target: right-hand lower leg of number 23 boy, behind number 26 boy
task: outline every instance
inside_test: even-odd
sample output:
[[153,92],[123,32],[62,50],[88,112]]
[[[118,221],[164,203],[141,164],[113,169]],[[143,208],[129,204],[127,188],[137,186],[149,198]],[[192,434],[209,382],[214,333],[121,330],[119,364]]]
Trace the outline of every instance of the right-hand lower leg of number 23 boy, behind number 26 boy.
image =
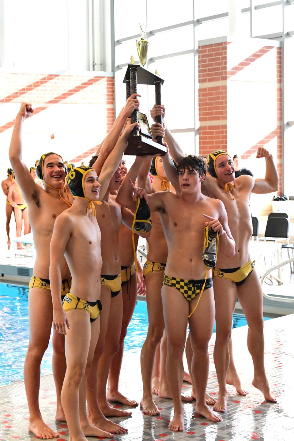
[[64,375],[67,370],[67,362],[64,351],[64,335],[53,329],[52,336],[52,371],[56,389],[56,421],[65,421],[65,415],[61,405],[60,394]]

